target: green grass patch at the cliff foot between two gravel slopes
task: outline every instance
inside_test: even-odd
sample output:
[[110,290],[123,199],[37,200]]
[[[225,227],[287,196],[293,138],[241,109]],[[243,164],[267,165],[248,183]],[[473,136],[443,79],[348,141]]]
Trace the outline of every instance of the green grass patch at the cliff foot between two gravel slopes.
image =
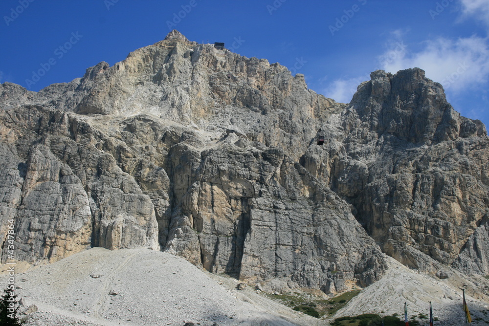
[[277,295],[271,293],[264,294],[270,299],[280,300],[282,304],[296,311],[302,311],[313,317],[320,318],[324,315],[333,315],[336,311],[348,304],[358,293],[360,293],[360,290],[348,291],[332,299],[313,299],[307,294],[300,294],[298,292]]

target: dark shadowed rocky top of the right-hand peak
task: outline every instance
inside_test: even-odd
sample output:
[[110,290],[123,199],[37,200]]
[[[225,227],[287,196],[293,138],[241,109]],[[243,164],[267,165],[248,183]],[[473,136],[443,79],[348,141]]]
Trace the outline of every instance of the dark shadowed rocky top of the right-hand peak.
[[350,106],[357,114],[352,119],[368,122],[367,128],[378,136],[410,143],[487,135],[480,121],[461,117],[446,101],[443,87],[426,78],[420,68],[394,75],[383,70],[372,72],[371,80],[358,88]]

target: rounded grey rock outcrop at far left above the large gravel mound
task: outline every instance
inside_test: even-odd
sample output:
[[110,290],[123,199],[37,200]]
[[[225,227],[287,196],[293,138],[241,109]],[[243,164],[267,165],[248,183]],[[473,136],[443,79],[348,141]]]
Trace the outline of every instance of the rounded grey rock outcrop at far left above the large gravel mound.
[[1,144],[2,230],[6,237],[15,219],[16,259],[57,261],[91,246],[159,248],[149,196],[111,155],[73,139],[87,126],[36,107],[3,110],[0,119],[2,139],[16,145]]

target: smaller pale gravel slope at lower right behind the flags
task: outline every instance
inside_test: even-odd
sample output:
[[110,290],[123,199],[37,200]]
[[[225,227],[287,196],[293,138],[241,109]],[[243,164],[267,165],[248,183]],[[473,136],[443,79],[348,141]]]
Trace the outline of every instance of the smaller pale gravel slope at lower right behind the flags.
[[[482,277],[471,276],[474,282],[453,269],[449,277],[441,280],[416,270],[388,257],[389,269],[382,279],[358,294],[347,306],[339,310],[335,318],[356,316],[363,313],[404,316],[407,303],[408,316],[422,313],[429,316],[432,302],[433,316],[438,317],[435,325],[460,326],[465,323],[462,310],[462,288],[466,288],[466,301],[472,316],[471,325],[487,325],[489,322],[489,282]],[[480,320],[477,320],[480,318]],[[421,320],[422,321],[422,320]],[[426,324],[426,319],[421,325]]]

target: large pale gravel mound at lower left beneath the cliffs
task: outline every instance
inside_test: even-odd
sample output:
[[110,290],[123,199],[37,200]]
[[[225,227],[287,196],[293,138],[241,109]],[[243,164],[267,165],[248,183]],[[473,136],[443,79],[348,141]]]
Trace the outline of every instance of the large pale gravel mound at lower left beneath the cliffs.
[[188,261],[149,249],[92,248],[16,275],[25,307],[38,307],[27,326],[314,324],[291,310],[278,316],[219,283]]

